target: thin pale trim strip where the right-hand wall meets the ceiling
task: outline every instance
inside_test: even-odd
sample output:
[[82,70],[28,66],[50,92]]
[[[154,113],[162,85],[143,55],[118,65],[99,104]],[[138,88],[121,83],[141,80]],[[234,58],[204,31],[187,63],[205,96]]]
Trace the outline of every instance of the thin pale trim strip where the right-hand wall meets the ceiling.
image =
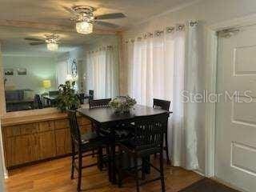
[[138,25],[141,25],[145,22],[149,22],[150,20],[154,19],[154,18],[159,18],[159,17],[162,17],[162,16],[165,16],[166,14],[170,14],[170,13],[173,13],[175,11],[178,11],[178,10],[182,10],[188,6],[192,6],[198,2],[201,2],[202,0],[194,0],[192,2],[185,2],[185,3],[182,3],[182,5],[179,5],[179,6],[175,6],[173,9],[170,9],[170,10],[166,10],[164,12],[162,12],[161,14],[156,14],[156,15],[153,15],[149,18],[146,18],[140,22],[135,22],[133,26],[138,26]]

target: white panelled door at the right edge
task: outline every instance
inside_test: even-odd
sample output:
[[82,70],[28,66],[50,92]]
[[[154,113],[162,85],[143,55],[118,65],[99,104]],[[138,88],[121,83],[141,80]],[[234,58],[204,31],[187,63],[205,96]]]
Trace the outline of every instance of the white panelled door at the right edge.
[[256,26],[238,30],[231,37],[218,37],[217,90],[223,95],[216,107],[215,175],[255,192]]

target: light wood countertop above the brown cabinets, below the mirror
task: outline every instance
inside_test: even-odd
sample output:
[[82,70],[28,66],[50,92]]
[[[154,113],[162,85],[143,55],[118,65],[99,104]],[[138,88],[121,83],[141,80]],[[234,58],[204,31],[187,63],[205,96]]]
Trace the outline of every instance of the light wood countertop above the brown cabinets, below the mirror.
[[52,114],[35,114],[24,117],[14,117],[14,118],[1,118],[1,126],[17,126],[33,122],[45,122],[56,119],[67,118],[66,113],[52,113]]

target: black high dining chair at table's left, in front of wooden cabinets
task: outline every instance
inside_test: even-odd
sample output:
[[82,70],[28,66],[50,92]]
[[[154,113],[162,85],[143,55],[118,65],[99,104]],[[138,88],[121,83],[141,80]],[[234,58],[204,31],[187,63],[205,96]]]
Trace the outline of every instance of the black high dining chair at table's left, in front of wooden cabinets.
[[[108,145],[108,138],[99,136],[96,132],[87,132],[86,134],[80,134],[76,111],[67,110],[67,112],[70,120],[70,134],[71,134],[71,146],[72,146],[71,179],[74,179],[74,169],[77,170],[78,171],[77,190],[81,191],[82,169],[88,168],[90,166],[96,166],[98,164],[102,164],[103,157],[102,157],[102,150],[100,149],[102,148],[102,146]],[[92,154],[84,154],[84,153],[90,152],[92,150],[98,150],[99,162],[93,163],[87,166],[83,166],[82,158],[92,155]],[[109,150],[106,150],[106,154],[107,155],[109,154]]]

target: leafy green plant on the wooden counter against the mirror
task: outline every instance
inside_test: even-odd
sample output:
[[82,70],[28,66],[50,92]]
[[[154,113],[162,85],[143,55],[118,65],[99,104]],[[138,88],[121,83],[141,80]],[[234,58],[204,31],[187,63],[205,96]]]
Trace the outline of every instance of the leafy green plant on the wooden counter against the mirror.
[[57,108],[66,111],[66,109],[77,109],[80,106],[80,100],[74,90],[75,82],[65,82],[58,86],[59,95],[57,98]]

